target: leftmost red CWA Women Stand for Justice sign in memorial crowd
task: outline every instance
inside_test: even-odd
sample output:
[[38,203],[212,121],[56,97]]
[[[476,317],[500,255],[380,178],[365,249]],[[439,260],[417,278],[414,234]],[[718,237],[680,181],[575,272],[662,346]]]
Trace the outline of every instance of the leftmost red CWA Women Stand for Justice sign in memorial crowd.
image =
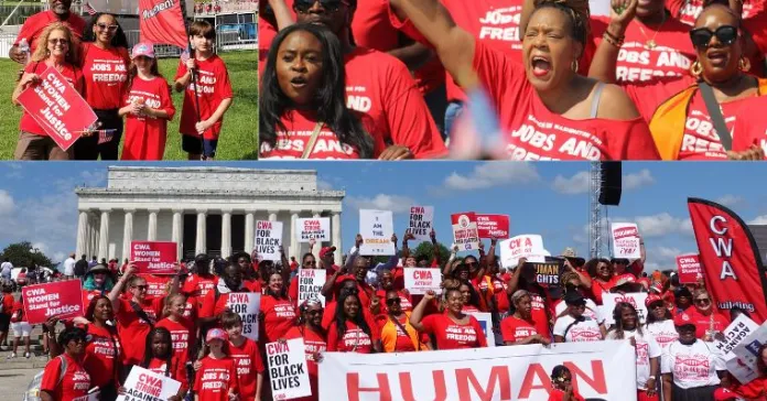
[[21,290],[21,297],[30,324],[45,323],[51,316],[68,319],[85,314],[79,280],[25,286]]

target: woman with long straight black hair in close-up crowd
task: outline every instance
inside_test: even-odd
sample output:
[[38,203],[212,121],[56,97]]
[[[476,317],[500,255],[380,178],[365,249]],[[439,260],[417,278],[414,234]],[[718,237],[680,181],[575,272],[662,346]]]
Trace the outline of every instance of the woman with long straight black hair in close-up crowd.
[[261,78],[261,159],[372,158],[372,138],[346,107],[343,61],[323,26],[294,24],[274,37]]

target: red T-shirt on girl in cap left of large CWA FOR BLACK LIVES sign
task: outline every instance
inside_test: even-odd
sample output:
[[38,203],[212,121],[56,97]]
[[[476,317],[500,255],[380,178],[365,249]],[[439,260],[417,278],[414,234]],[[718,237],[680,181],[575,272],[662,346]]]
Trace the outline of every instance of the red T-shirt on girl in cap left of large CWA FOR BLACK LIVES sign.
[[225,357],[212,358],[209,355],[202,359],[194,382],[195,395],[205,401],[229,401],[229,390],[239,393],[239,380],[235,360]]

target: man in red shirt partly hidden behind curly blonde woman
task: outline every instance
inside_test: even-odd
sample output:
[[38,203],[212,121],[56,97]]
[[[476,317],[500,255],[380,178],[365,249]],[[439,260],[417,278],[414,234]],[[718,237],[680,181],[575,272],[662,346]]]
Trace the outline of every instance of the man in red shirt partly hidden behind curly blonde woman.
[[37,47],[37,36],[52,23],[62,22],[72,30],[72,33],[77,39],[83,37],[85,20],[69,10],[72,0],[48,0],[48,4],[51,6],[50,10],[41,11],[30,17],[21,25],[13,46],[8,51],[8,56],[14,62],[20,64],[26,63],[26,54],[19,48],[21,41],[25,40],[30,46],[30,54],[34,53],[34,50]]

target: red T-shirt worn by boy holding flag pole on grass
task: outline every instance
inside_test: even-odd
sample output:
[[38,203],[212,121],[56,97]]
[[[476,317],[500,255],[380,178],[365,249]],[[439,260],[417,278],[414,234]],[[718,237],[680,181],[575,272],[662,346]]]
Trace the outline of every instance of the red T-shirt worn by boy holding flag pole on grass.
[[[186,65],[179,63],[179,72],[174,79],[179,79],[186,74]],[[218,106],[225,99],[230,99],[231,83],[226,64],[217,55],[209,58],[197,59],[197,94],[199,95],[199,118],[203,120],[213,116]],[[184,90],[184,106],[181,109],[181,124],[179,131],[185,136],[198,137],[197,129],[197,99],[195,99],[194,83],[190,82]],[[216,123],[208,128],[203,134],[205,139],[218,139],[222,132],[222,117]]]

